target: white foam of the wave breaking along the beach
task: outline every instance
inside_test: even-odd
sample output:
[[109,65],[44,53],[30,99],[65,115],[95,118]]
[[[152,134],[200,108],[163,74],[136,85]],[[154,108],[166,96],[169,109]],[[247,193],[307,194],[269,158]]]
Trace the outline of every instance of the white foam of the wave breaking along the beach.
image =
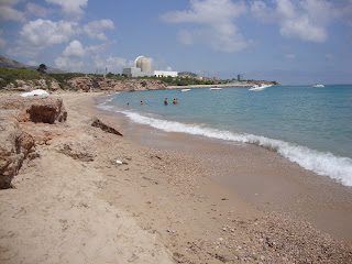
[[[108,109],[108,106],[103,106],[103,108],[106,110],[112,110],[112,108]],[[161,120],[132,111],[122,112],[136,123],[147,124],[166,132],[183,132],[232,142],[256,144],[271,151],[275,151],[290,162],[295,162],[301,167],[312,170],[318,175],[328,176],[344,186],[352,186],[352,160],[349,157],[339,157],[331,153],[318,152],[306,146],[254,134],[240,134],[206,128],[199,124],[185,124],[175,121]]]

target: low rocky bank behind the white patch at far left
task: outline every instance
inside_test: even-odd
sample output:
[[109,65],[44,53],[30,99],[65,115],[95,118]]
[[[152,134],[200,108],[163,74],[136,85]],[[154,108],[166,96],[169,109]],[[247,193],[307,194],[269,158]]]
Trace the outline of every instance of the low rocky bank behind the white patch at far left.
[[59,84],[54,79],[52,79],[51,81],[47,81],[45,79],[35,79],[35,80],[16,79],[14,82],[10,82],[6,87],[3,87],[3,89],[9,91],[31,91],[35,89],[55,91],[59,89]]

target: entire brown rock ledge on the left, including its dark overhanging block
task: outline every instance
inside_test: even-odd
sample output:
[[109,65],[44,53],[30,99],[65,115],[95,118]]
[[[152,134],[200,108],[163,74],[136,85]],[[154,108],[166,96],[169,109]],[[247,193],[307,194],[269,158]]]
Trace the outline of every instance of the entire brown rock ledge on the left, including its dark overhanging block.
[[[43,131],[33,123],[64,122],[67,111],[61,98],[1,96],[0,98],[0,188],[10,188],[25,158],[35,152],[35,139]],[[44,134],[47,134],[45,132]]]

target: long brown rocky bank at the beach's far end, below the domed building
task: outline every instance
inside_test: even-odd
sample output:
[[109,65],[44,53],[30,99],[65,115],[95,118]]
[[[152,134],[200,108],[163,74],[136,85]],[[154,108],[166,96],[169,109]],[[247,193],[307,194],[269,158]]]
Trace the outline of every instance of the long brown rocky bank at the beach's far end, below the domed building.
[[74,90],[78,91],[138,91],[163,90],[166,85],[155,79],[107,79],[103,77],[76,77],[68,80]]

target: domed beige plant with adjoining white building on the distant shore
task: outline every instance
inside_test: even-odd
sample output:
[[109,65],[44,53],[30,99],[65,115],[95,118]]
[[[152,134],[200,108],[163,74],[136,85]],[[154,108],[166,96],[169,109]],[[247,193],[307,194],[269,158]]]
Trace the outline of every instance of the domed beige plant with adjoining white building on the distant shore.
[[124,68],[122,70],[123,75],[128,77],[144,77],[144,76],[155,76],[155,77],[177,77],[177,72],[170,70],[152,70],[152,62],[151,59],[139,56],[134,61],[134,67]]

